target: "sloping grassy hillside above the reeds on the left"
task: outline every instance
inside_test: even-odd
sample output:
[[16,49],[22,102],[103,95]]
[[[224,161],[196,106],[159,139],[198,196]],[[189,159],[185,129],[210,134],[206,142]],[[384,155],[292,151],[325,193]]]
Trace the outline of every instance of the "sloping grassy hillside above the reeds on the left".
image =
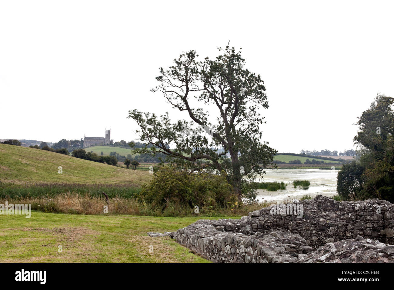
[[[58,173],[58,167],[63,173]],[[0,181],[24,183],[135,183],[149,181],[147,171],[130,170],[55,152],[0,144]]]

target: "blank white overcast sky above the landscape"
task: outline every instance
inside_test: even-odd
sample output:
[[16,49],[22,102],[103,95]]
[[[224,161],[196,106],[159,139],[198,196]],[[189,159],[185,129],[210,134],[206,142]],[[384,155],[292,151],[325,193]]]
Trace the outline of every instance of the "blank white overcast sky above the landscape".
[[355,149],[357,117],[394,97],[394,2],[0,1],[0,139],[134,140],[165,103],[159,67],[227,42],[266,86],[263,141],[279,152]]

